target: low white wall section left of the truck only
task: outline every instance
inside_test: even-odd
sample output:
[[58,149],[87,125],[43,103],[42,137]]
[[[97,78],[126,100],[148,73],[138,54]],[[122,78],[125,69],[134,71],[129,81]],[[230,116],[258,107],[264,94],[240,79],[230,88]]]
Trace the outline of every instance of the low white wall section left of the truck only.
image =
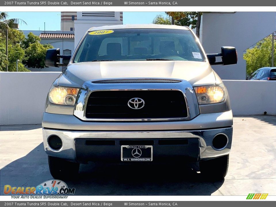
[[0,125],[41,124],[45,101],[60,72],[0,72]]

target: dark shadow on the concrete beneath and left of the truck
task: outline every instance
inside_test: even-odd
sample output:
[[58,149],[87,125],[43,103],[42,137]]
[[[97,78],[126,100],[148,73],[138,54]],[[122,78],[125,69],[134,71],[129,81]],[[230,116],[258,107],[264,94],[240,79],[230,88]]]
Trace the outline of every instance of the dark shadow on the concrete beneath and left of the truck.
[[[195,164],[136,166],[91,162],[81,164],[79,176],[65,183],[76,188],[75,195],[184,196],[211,195],[224,182],[205,182],[197,171]],[[4,195],[4,185],[37,186],[51,179],[41,143],[0,170],[0,195]]]

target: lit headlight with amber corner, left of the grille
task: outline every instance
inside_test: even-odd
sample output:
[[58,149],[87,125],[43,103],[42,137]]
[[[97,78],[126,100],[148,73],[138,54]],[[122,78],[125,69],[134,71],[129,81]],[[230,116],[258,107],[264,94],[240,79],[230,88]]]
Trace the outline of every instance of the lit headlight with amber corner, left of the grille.
[[49,92],[49,101],[52,104],[74,106],[79,89],[52,86]]

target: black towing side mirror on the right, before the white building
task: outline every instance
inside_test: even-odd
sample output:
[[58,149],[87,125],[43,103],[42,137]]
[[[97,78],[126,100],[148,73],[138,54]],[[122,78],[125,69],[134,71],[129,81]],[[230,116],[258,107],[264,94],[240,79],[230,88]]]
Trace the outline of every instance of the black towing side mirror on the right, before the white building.
[[[220,62],[216,62],[216,57],[221,57]],[[235,47],[223,46],[221,53],[207,54],[210,65],[233,65],[237,64],[238,57]]]

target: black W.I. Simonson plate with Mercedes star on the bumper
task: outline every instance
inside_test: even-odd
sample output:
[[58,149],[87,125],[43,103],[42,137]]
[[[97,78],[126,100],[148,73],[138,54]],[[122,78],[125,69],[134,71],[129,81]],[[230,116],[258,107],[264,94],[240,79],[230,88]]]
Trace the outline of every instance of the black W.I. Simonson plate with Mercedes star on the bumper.
[[151,145],[122,145],[122,161],[152,161]]

